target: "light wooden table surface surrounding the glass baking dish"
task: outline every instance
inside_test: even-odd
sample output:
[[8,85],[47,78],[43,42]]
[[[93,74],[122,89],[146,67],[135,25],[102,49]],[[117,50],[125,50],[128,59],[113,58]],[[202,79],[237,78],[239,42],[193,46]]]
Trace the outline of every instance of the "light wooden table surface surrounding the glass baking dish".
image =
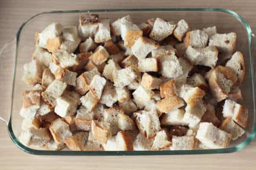
[[[50,10],[97,8],[227,8],[236,11],[256,30],[256,1],[233,0],[0,0],[0,48],[11,40],[23,21]],[[254,32],[255,34],[255,32]],[[1,90],[0,90],[1,91]],[[255,170],[256,140],[236,153],[181,156],[35,156],[18,149],[0,123],[0,169],[197,169]],[[60,168],[61,167],[61,168]]]

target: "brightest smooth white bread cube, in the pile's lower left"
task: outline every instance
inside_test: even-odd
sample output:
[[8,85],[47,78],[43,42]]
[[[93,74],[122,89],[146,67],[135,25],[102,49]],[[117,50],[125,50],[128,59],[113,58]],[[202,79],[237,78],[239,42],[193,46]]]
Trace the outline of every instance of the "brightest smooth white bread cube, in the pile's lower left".
[[61,117],[72,116],[76,113],[76,108],[80,104],[80,95],[74,91],[64,92],[56,99],[54,112]]

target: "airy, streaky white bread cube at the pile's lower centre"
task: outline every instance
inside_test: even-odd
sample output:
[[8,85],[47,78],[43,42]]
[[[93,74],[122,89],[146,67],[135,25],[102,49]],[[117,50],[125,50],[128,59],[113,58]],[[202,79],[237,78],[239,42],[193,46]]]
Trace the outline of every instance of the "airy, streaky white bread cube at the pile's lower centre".
[[154,138],[157,135],[157,132],[161,130],[156,111],[135,112],[134,116],[140,133],[146,139]]

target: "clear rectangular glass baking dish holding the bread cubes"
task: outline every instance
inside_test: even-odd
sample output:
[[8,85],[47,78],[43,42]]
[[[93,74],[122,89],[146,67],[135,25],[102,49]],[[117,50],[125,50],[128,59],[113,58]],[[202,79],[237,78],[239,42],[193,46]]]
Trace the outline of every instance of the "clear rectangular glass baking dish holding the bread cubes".
[[[19,142],[22,117],[19,114],[22,106],[22,92],[27,88],[22,82],[23,65],[30,61],[34,48],[35,32],[43,30],[53,22],[64,26],[79,23],[79,15],[97,13],[100,17],[108,17],[111,21],[125,15],[130,15],[134,23],[145,22],[151,17],[161,17],[165,20],[186,20],[191,28],[216,26],[218,33],[236,32],[236,51],[244,55],[246,74],[241,85],[244,96],[242,105],[249,110],[246,133],[238,140],[233,141],[227,148],[208,150],[160,150],[160,151],[50,151],[35,150]],[[231,153],[247,146],[255,137],[255,92],[256,78],[253,69],[253,46],[255,37],[249,24],[236,12],[219,8],[147,8],[147,9],[99,9],[77,11],[47,11],[37,14],[24,22],[14,40],[7,43],[0,51],[0,79],[1,97],[0,120],[6,123],[9,135],[17,147],[27,153],[36,155],[178,155],[178,154],[206,154]],[[255,51],[255,49],[254,49]]]

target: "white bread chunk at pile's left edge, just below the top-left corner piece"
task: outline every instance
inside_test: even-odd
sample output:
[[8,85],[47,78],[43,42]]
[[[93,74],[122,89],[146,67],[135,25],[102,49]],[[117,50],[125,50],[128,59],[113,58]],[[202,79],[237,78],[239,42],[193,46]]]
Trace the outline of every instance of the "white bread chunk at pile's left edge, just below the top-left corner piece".
[[48,68],[49,62],[51,61],[51,54],[44,48],[35,45],[31,58],[36,59],[42,68]]

